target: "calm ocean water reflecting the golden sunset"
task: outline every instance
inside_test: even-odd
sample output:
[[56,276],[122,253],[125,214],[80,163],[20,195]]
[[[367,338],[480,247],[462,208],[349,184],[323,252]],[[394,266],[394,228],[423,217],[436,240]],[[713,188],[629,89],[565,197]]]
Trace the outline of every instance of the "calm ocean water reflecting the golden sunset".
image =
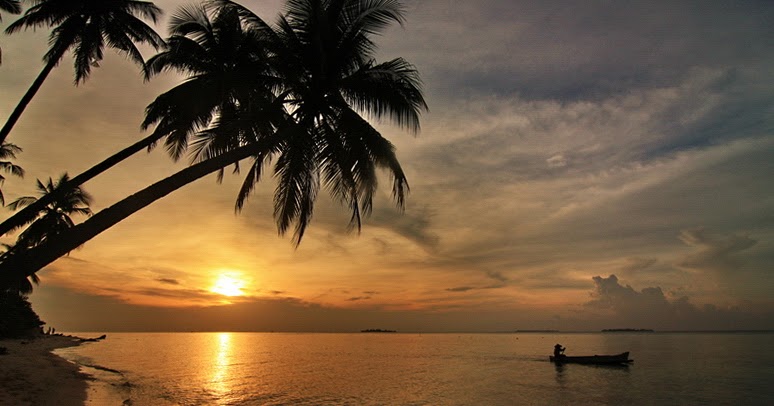
[[[556,366],[556,343],[634,363]],[[115,333],[57,354],[95,376],[97,405],[772,405],[772,344],[771,333]]]

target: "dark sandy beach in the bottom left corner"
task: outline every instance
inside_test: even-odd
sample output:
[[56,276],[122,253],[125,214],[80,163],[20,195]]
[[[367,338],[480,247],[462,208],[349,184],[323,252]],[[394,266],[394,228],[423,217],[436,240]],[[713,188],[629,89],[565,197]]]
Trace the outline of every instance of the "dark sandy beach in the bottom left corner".
[[0,340],[0,405],[83,405],[88,375],[51,353],[80,345],[78,337],[40,336]]

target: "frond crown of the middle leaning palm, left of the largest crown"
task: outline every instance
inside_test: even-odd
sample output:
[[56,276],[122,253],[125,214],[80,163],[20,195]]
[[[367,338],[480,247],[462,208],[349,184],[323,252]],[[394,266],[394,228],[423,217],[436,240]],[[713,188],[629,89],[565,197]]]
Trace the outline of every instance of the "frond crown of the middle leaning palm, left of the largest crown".
[[[165,50],[146,64],[146,79],[170,70],[188,79],[147,107],[142,127],[155,124],[153,134],[166,139],[167,151],[177,160],[191,137],[213,123],[247,110],[248,105],[253,112],[271,109],[278,80],[272,75],[265,33],[244,24],[232,5],[207,2],[181,7],[172,16],[169,31]],[[273,108],[275,113],[281,112],[279,107]],[[273,130],[271,120],[253,124],[259,123],[263,132]]]

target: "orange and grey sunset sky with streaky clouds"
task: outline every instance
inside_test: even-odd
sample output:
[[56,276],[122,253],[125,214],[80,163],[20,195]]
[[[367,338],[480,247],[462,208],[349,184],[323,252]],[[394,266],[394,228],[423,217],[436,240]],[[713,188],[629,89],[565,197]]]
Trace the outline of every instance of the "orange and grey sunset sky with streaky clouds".
[[[165,35],[184,2],[156,4]],[[273,22],[283,3],[241,4]],[[296,248],[274,224],[272,179],[235,214],[242,175],[209,176],[39,272],[41,318],[59,331],[774,329],[774,4],[405,5],[378,59],[416,66],[429,111],[416,136],[375,123],[408,176],[404,212],[386,176],[359,234],[321,195]],[[47,35],[0,36],[0,116]],[[76,87],[66,57],[8,138],[27,173],[5,175],[6,201],[147,135],[145,106],[180,80],[146,83],[106,51]],[[98,211],[186,164],[159,148],[84,188]]]

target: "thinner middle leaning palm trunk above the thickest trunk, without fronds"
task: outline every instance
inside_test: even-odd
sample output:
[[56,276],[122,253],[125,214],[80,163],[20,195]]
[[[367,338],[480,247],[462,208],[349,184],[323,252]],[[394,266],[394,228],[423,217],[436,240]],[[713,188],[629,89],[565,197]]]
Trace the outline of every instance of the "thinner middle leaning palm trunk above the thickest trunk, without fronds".
[[153,133],[150,136],[122,149],[121,151],[115,153],[113,156],[105,159],[97,165],[92,166],[80,175],[70,179],[70,181],[61,185],[52,193],[41,196],[40,199],[36,200],[34,203],[26,206],[22,210],[16,212],[16,214],[13,216],[0,223],[0,236],[3,236],[6,233],[22,227],[28,222],[34,220],[38,213],[40,213],[40,211],[43,210],[48,204],[64,196],[68,191],[83,185],[84,183],[93,179],[95,176],[112,168],[124,159],[129,158],[135,153],[152,146],[160,138],[162,138],[161,135]]

